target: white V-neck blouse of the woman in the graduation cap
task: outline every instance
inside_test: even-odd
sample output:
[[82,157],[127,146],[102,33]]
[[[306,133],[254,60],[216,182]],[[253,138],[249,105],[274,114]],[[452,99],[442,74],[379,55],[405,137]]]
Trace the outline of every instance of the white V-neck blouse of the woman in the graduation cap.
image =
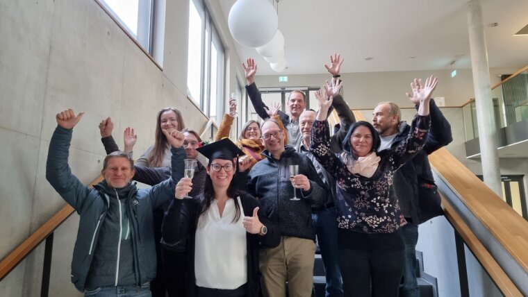
[[[235,203],[240,219],[233,223]],[[240,197],[228,199],[222,217],[214,200],[199,219],[195,235],[196,285],[213,289],[236,289],[247,282],[246,230]]]

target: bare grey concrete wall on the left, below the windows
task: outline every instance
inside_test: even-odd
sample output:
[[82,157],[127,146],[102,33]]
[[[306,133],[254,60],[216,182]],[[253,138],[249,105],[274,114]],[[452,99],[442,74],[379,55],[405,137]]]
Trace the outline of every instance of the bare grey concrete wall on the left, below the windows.
[[[221,10],[213,4],[215,22]],[[44,178],[55,114],[85,116],[74,129],[69,163],[83,183],[99,176],[105,151],[97,125],[106,117],[135,128],[136,157],[154,141],[158,110],[182,110],[186,126],[208,119],[186,97],[188,0],[159,1],[156,56],[160,69],[94,0],[0,1],[0,258],[20,244],[65,202]],[[222,16],[222,15],[220,15]],[[162,22],[163,21],[163,22]],[[231,61],[226,93],[242,73],[226,24],[220,24]],[[235,69],[238,67],[238,69]],[[69,282],[78,217],[55,236],[50,296],[80,296]],[[0,296],[38,296],[43,245],[0,282]]]

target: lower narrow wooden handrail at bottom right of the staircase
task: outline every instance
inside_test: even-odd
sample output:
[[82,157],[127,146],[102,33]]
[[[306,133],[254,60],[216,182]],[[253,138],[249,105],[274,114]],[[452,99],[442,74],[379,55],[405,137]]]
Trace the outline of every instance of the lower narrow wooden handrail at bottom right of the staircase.
[[460,215],[454,210],[449,202],[442,197],[442,205],[447,221],[451,223],[456,232],[463,238],[470,251],[477,257],[484,270],[490,275],[490,278],[499,287],[504,296],[522,296],[519,289],[513,284],[508,275],[502,270],[500,265],[493,259],[486,247],[477,238],[475,233],[464,222]]

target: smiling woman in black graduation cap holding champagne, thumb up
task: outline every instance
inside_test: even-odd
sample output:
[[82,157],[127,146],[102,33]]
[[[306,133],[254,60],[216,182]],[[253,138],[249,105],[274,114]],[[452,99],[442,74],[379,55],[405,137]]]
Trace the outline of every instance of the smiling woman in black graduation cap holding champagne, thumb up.
[[188,240],[188,296],[258,297],[261,244],[279,245],[279,231],[251,195],[237,189],[236,159],[244,155],[229,139],[197,148],[209,159],[204,193],[185,199],[192,189],[189,178],[176,185],[176,199],[163,219],[166,244]]

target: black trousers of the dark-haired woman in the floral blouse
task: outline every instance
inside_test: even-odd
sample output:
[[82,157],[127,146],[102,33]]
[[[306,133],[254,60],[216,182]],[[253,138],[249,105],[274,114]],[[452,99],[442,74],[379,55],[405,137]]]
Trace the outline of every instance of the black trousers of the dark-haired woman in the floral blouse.
[[345,297],[398,296],[405,248],[401,232],[339,230],[339,257]]

